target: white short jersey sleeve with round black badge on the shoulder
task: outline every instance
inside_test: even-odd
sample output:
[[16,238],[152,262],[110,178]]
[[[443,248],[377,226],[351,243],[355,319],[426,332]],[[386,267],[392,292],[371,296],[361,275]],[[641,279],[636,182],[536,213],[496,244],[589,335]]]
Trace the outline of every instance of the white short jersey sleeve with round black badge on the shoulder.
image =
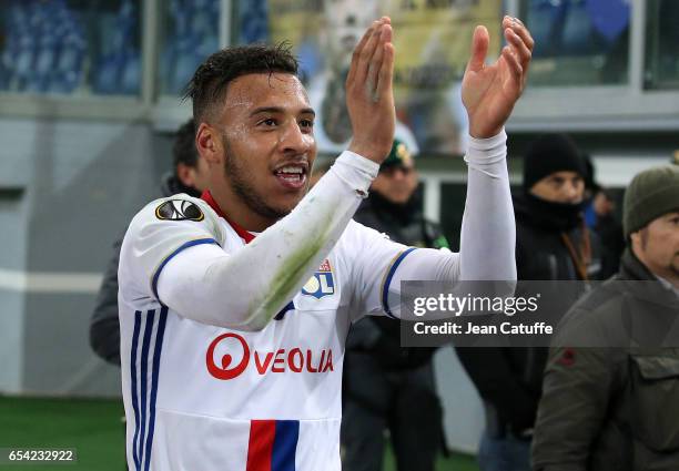
[[158,278],[168,262],[186,248],[223,243],[219,216],[202,199],[184,194],[156,199],[128,228],[118,272],[120,289],[124,297],[158,299]]

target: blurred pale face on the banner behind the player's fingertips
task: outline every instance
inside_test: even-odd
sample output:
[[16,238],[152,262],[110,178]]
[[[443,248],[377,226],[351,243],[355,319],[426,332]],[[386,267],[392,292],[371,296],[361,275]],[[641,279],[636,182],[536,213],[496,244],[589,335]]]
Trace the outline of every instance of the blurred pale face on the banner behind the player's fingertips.
[[365,29],[378,17],[375,0],[325,0],[326,39],[332,66],[348,66]]

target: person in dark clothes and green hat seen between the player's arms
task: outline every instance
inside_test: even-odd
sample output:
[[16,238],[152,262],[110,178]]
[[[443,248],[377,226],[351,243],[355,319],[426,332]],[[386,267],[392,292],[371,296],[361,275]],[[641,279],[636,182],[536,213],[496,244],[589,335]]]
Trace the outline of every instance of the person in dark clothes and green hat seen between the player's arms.
[[[354,219],[409,246],[447,247],[440,227],[423,215],[418,185],[415,160],[396,139]],[[398,470],[434,471],[443,442],[434,351],[401,347],[401,327],[392,319],[366,316],[352,325],[343,379],[344,470],[381,471],[388,429]]]

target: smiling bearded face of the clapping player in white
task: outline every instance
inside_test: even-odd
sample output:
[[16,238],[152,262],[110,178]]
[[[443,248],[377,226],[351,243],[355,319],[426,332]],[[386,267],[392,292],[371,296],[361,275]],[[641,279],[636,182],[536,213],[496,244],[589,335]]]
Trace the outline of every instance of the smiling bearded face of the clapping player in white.
[[265,219],[288,214],[308,190],[314,112],[300,80],[249,74],[227,89],[220,131],[231,193]]

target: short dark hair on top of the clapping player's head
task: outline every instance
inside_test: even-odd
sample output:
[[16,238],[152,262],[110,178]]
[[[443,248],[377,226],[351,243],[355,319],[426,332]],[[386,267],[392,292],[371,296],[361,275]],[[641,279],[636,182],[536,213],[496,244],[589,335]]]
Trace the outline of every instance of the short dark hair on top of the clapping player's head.
[[193,119],[204,121],[205,114],[224,100],[229,84],[249,73],[290,73],[297,75],[298,62],[288,42],[276,45],[236,45],[215,52],[197,68],[186,85],[184,99],[193,102]]

